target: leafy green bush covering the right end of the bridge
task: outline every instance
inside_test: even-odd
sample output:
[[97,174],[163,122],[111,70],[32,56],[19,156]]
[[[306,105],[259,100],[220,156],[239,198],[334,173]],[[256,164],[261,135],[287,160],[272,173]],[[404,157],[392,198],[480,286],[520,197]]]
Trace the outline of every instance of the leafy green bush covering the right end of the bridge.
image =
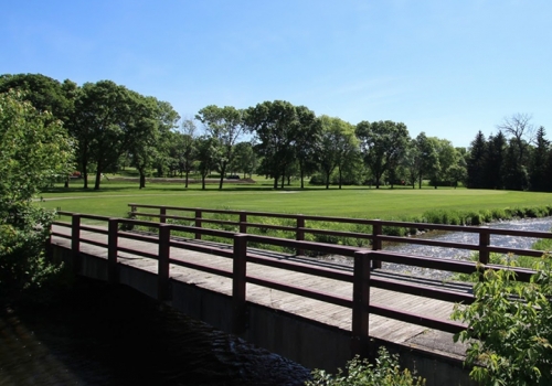
[[552,264],[550,256],[530,283],[511,270],[485,271],[474,287],[476,301],[457,304],[453,320],[468,329],[455,341],[468,342],[466,363],[481,385],[550,385],[552,383]]

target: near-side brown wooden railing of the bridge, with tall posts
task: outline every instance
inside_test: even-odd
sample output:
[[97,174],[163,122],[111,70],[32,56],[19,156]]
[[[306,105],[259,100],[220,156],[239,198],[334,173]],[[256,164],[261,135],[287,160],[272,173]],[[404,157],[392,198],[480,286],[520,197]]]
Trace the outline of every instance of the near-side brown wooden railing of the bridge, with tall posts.
[[[232,280],[232,301],[233,301],[233,331],[241,333],[246,329],[246,285],[257,285],[274,290],[279,290],[296,296],[306,297],[322,302],[328,302],[350,309],[352,312],[352,344],[357,347],[355,351],[364,350],[369,339],[368,319],[371,313],[383,315],[386,318],[432,328],[447,332],[458,332],[465,329],[460,323],[450,320],[434,319],[428,315],[414,314],[404,310],[388,308],[383,304],[370,302],[370,288],[381,288],[390,291],[415,294],[429,299],[438,299],[448,302],[471,303],[474,297],[469,289],[452,290],[447,288],[438,288],[431,286],[422,286],[415,282],[397,282],[382,277],[374,277],[371,274],[371,261],[380,260],[393,264],[402,264],[422,268],[439,269],[450,272],[473,274],[481,266],[471,261],[458,261],[452,259],[438,259],[424,256],[411,256],[403,254],[394,254],[382,250],[370,250],[365,248],[314,243],[306,240],[294,240],[286,238],[268,237],[261,235],[252,235],[244,233],[235,233],[227,230],[216,230],[195,226],[174,225],[167,223],[138,221],[129,218],[110,218],[96,215],[76,214],[70,212],[60,212],[62,216],[70,216],[70,222],[57,221],[55,226],[70,228],[70,233],[53,232],[52,237],[62,237],[71,239],[71,248],[73,251],[73,266],[78,271],[81,264],[82,245],[88,244],[96,247],[102,247],[107,250],[107,279],[110,282],[118,282],[118,256],[120,253],[138,255],[146,258],[156,259],[158,261],[158,298],[167,300],[170,298],[170,267],[171,265],[187,267],[200,271],[210,272]],[[82,221],[89,219],[104,223],[106,226],[86,225]],[[121,226],[144,226],[158,229],[157,233],[134,233],[121,230]],[[185,239],[174,237],[174,233],[179,235],[190,233],[193,235],[210,235],[219,238],[225,238],[229,244],[198,242],[195,239]],[[172,235],[171,235],[172,233]],[[92,235],[104,235],[103,240],[98,240]],[[148,244],[157,245],[157,253],[147,253],[140,248],[124,247],[120,245],[121,239],[132,239]],[[294,260],[290,257],[279,255],[280,258],[267,256],[250,245],[274,245],[289,249],[300,249],[316,251],[320,254],[341,255],[353,258],[353,268],[344,267],[328,267],[308,264],[301,260]],[[183,261],[171,257],[171,249],[191,249],[210,255],[222,256],[232,259],[232,269],[221,269],[209,266],[202,261]],[[277,281],[267,277],[258,277],[247,274],[247,265],[264,265],[278,269],[285,269],[293,272],[301,272],[311,276],[330,278],[333,280],[352,283],[352,292],[350,296],[336,294],[327,291],[305,288],[290,282]],[[501,269],[500,267],[495,267]],[[502,267],[503,268],[503,267]],[[520,280],[529,280],[534,274],[531,270],[509,268],[518,274]],[[364,347],[364,349],[362,349]]]

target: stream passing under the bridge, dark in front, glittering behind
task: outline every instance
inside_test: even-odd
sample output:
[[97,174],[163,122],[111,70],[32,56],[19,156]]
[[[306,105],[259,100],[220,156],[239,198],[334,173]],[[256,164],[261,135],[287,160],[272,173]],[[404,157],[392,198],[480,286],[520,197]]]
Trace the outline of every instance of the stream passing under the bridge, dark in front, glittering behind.
[[[549,232],[552,217],[492,224]],[[477,235],[422,237],[477,244]],[[529,248],[534,239],[491,236]],[[467,259],[469,251],[415,245],[405,254]],[[434,270],[384,265],[435,278]],[[79,279],[49,305],[0,309],[0,386],[20,385],[302,385],[309,371],[216,331],[125,287]]]

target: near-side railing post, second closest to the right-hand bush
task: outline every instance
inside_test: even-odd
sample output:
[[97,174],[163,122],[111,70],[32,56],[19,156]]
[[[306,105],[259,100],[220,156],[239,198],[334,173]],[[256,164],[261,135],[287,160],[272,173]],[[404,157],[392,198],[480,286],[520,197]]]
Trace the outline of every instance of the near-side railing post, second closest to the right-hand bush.
[[247,265],[247,235],[234,235],[234,276],[232,279],[232,332],[241,334],[247,328],[245,283]]

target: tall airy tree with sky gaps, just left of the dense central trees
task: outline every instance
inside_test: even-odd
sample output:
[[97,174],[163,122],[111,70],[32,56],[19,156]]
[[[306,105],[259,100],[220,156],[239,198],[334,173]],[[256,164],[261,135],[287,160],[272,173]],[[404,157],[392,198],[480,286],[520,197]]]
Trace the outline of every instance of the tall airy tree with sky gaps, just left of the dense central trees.
[[202,108],[195,119],[205,126],[206,132],[216,139],[216,143],[221,147],[217,167],[221,172],[219,189],[222,189],[226,168],[234,156],[234,144],[244,131],[243,110],[232,106],[217,107],[210,105]]

